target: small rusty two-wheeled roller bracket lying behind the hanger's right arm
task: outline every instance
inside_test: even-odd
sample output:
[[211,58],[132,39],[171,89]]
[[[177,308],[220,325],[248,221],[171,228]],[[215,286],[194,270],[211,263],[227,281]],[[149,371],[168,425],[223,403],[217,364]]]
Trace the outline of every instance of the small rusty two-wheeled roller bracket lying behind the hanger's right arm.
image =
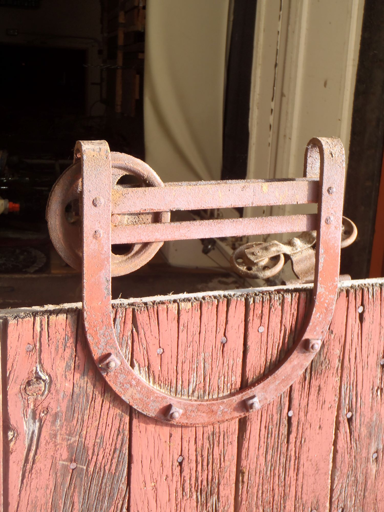
[[[355,224],[343,217],[340,247],[350,246],[357,237]],[[284,254],[292,263],[296,283],[313,283],[315,275],[316,231],[303,231],[286,242],[250,242],[235,249],[230,257],[233,270],[245,278],[268,280],[283,268]],[[292,283],[294,283],[292,281]]]

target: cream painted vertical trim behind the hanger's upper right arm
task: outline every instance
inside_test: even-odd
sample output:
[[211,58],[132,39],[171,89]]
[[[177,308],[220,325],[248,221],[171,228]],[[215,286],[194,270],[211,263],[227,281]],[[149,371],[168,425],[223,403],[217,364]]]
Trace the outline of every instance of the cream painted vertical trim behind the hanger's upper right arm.
[[258,0],[248,178],[303,176],[315,136],[342,139],[348,159],[363,9],[364,0]]

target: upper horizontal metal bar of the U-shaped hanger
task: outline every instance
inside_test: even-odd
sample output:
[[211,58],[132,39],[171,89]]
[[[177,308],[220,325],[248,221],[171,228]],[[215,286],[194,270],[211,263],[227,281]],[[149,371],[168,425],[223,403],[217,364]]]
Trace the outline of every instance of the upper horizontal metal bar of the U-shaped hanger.
[[236,208],[316,203],[317,180],[244,180],[165,183],[164,187],[112,190],[112,212],[131,214],[151,211]]

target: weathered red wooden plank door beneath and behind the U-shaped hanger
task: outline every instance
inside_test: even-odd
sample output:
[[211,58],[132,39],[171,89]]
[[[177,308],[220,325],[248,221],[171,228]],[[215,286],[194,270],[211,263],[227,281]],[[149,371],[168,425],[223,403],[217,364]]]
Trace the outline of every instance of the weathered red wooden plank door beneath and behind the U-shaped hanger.
[[[384,281],[340,288],[321,351],[288,391],[247,417],[196,427],[147,417],[110,389],[77,305],[3,312],[4,512],[380,512],[383,292]],[[116,303],[114,325],[155,388],[215,398],[276,364],[310,294]]]

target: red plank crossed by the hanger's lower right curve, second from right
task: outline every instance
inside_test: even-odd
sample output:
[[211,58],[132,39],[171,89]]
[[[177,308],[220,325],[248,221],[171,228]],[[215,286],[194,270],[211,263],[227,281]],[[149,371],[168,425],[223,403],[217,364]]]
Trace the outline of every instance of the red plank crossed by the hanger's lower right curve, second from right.
[[[345,302],[342,294],[322,352],[307,372],[280,399],[241,420],[235,510],[328,510]],[[304,293],[263,296],[249,305],[246,383],[290,346],[305,306]]]

